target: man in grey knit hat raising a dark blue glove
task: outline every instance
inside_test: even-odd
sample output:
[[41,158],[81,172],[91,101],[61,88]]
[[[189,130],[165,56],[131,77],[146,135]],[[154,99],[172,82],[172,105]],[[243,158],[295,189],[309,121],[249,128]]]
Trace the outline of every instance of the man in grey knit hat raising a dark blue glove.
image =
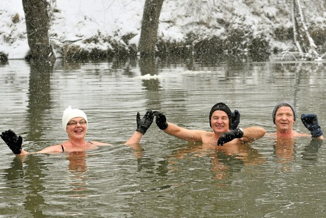
[[277,131],[273,135],[277,137],[293,138],[311,136],[312,138],[323,139],[323,132],[318,124],[316,114],[311,113],[301,115],[301,121],[310,131],[310,135],[298,133],[292,129],[296,119],[296,111],[292,103],[288,101],[281,101],[277,103],[273,110],[272,117]]

